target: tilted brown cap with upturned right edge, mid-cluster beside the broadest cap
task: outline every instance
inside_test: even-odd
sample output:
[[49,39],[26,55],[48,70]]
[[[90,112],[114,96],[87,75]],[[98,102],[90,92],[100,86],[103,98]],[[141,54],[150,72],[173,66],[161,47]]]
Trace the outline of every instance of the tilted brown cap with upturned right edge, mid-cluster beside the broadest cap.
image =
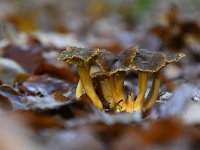
[[121,51],[118,55],[118,60],[114,63],[112,71],[110,74],[114,74],[118,71],[128,71],[130,70],[130,65],[136,56],[138,47],[130,47]]

